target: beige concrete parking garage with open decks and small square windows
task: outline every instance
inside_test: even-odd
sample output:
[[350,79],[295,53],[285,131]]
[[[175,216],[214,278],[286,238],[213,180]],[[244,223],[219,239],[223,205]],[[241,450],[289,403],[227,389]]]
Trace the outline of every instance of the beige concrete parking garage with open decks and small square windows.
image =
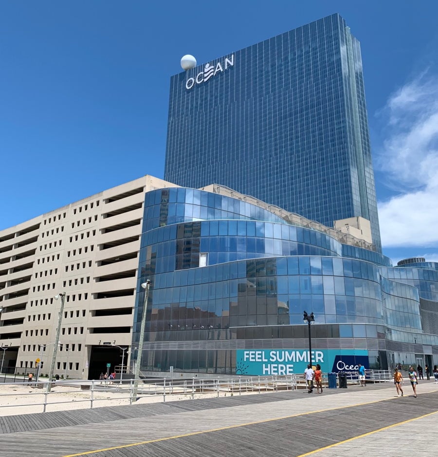
[[[91,346],[99,341],[130,346],[133,311],[101,317],[94,313],[134,307],[144,196],[163,187],[175,185],[146,175],[0,231],[0,345],[15,354],[19,372],[35,368],[39,344],[54,342],[60,307],[54,296],[59,292],[66,293],[66,300],[55,374],[64,374],[68,360],[69,377],[87,378]],[[105,233],[108,229],[112,231]],[[104,249],[125,238],[133,240]],[[22,253],[27,256],[16,259]],[[131,295],[103,298],[122,289]],[[131,331],[111,330],[121,326]],[[105,332],[94,333],[96,327]],[[52,351],[53,345],[43,352],[43,374],[49,372]]]

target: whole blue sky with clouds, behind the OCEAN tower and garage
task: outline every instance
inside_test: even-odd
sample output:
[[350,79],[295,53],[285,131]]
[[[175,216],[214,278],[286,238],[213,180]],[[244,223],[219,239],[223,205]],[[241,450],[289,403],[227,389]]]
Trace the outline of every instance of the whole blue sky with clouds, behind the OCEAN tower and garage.
[[163,177],[169,79],[334,12],[361,41],[384,253],[438,261],[435,1],[3,1],[0,229]]

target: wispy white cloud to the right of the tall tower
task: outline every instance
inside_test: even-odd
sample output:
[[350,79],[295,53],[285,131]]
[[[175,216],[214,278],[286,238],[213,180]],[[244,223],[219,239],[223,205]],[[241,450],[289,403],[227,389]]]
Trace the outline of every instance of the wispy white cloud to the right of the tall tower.
[[[398,195],[379,202],[383,247],[438,244],[438,77],[427,73],[388,100],[378,166]],[[430,257],[430,256],[428,256]]]

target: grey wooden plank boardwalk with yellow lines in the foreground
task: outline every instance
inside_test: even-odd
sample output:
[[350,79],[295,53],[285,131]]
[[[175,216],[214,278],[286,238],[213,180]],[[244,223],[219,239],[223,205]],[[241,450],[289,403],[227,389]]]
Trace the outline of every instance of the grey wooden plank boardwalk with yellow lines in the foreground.
[[397,398],[388,383],[4,417],[0,455],[296,457],[324,448],[313,455],[326,457],[357,454],[359,442],[361,453],[384,455],[421,436],[415,454],[426,456],[438,432],[438,385],[418,390]]

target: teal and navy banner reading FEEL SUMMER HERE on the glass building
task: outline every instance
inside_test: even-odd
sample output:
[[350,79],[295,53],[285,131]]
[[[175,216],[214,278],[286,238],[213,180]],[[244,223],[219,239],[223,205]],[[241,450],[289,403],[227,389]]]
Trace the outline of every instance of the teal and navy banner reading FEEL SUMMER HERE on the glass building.
[[[284,376],[302,374],[309,364],[309,351],[293,349],[237,349],[236,374]],[[323,349],[312,351],[311,364],[324,372],[357,372],[358,365],[369,368],[364,349]]]

